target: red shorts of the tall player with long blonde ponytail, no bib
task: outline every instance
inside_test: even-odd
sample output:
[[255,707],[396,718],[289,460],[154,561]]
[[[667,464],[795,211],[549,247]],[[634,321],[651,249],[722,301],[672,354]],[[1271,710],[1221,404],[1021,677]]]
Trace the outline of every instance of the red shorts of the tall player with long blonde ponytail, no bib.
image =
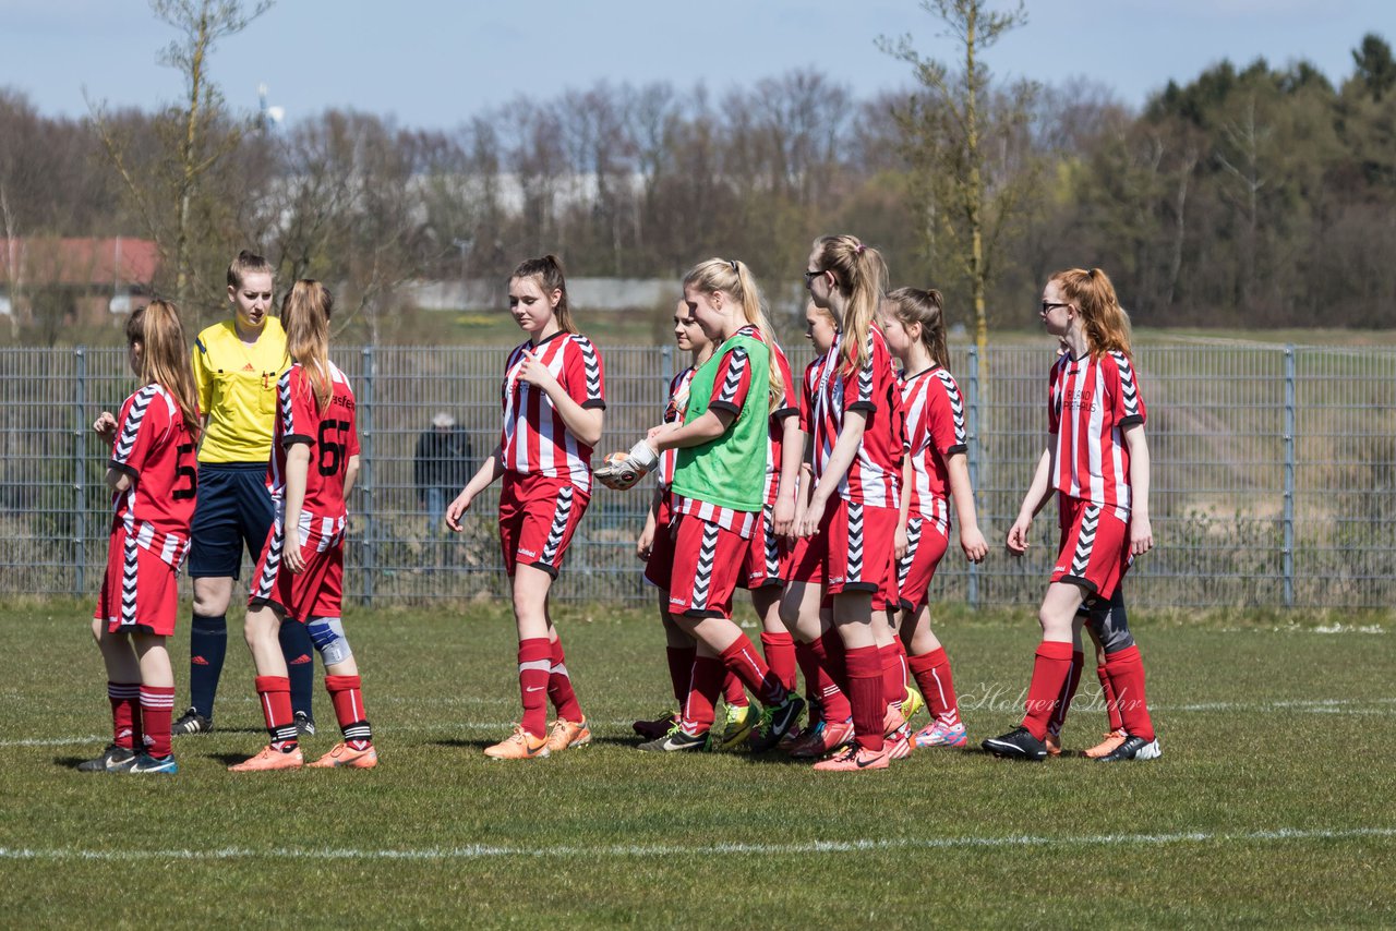
[[872,610],[898,606],[896,508],[878,508],[839,498],[824,535],[824,578],[829,595],[871,592]]

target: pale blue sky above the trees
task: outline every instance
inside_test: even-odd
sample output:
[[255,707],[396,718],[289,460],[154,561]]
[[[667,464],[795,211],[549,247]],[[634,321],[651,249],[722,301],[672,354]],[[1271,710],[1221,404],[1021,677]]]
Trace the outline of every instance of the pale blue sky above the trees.
[[[1027,25],[987,54],[995,74],[1086,77],[1134,106],[1223,57],[1305,57],[1337,82],[1362,33],[1396,43],[1393,0],[1027,0],[1026,8]],[[945,59],[955,49],[940,32],[916,0],[278,0],[215,50],[214,77],[239,109],[255,107],[265,82],[292,120],[352,106],[450,128],[521,94],[543,99],[603,78],[680,89],[702,81],[720,92],[815,67],[868,96],[909,84],[907,67],[875,47],[879,35],[912,33],[923,54]],[[156,63],[173,32],[142,0],[0,0],[0,87],[46,114],[84,114],[84,89],[144,109],[176,96],[176,74]]]

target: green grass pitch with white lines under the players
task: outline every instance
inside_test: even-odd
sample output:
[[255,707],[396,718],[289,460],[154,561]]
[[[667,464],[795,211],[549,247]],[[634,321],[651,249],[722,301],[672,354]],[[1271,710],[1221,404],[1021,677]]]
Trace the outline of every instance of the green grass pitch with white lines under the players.
[[[265,741],[235,634],[218,730],[176,738],[177,776],[137,777],[71,769],[110,733],[89,610],[4,607],[6,927],[1396,923],[1390,616],[1139,611],[1156,762],[917,751],[825,775],[637,752],[628,722],[664,706],[662,636],[648,613],[579,606],[558,614],[596,743],[489,762],[517,715],[507,611],[360,610],[376,770],[225,772]],[[1034,627],[940,625],[976,741],[1015,723]],[[315,709],[307,755],[336,740],[322,691]],[[1068,751],[1101,729],[1078,705]]]

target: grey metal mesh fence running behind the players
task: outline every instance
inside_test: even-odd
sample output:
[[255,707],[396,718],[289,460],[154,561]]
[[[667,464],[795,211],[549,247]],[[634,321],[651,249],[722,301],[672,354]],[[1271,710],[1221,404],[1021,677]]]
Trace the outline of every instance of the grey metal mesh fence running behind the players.
[[[803,350],[804,346],[800,346]],[[671,348],[602,346],[606,435],[627,448],[659,419]],[[415,482],[419,437],[438,412],[476,459],[498,437],[500,348],[335,350],[359,398],[363,470],[353,494],[346,595],[364,603],[505,596],[498,486],[463,535],[429,526]],[[792,363],[807,360],[796,353]],[[1033,603],[1055,543],[1048,507],[1029,556],[997,544],[1044,447],[1044,349],[952,350],[966,398],[970,470],[991,553],[951,551],[935,597]],[[1381,607],[1396,595],[1396,352],[1213,345],[1143,346],[1156,549],[1131,572],[1150,606]],[[134,388],[120,349],[0,350],[0,593],[92,595],[106,560],[106,454],[91,423]],[[648,491],[597,489],[558,597],[648,600],[634,540]],[[244,567],[243,578],[247,576]]]

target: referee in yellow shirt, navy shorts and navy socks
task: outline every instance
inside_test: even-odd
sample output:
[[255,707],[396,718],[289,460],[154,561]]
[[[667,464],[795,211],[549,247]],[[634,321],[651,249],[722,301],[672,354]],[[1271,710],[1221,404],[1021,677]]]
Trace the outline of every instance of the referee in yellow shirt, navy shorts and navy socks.
[[[194,341],[194,382],[204,415],[198,449],[198,500],[190,528],[188,574],[194,579],[190,627],[190,708],[176,734],[214,730],[214,694],[228,652],[228,604],[242,571],[243,549],[261,554],[272,525],[267,461],[276,415],[276,380],[290,367],[286,332],[268,315],[272,267],[242,251],[228,267],[233,318]],[[300,733],[315,733],[310,709],[314,650],[304,624],[281,625],[290,671],[290,703]]]

